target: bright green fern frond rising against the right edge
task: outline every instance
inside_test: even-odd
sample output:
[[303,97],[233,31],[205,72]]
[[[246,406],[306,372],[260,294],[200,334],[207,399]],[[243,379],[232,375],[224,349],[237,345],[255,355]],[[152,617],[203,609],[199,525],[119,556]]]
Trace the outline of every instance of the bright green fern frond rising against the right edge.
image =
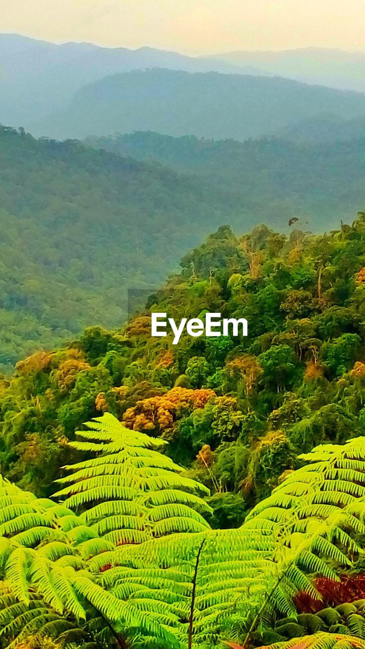
[[305,465],[251,511],[244,528],[272,530],[302,569],[336,579],[333,567],[351,565],[362,552],[365,439],[321,445],[299,457]]

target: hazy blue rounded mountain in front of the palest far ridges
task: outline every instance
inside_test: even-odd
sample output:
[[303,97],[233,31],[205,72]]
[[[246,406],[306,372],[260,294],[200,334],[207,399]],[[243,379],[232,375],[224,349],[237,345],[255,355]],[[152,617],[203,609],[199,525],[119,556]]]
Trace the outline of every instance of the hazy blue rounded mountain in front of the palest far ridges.
[[365,94],[280,77],[149,69],[89,84],[62,114],[38,120],[31,130],[60,139],[155,130],[244,141],[329,112],[365,116]]

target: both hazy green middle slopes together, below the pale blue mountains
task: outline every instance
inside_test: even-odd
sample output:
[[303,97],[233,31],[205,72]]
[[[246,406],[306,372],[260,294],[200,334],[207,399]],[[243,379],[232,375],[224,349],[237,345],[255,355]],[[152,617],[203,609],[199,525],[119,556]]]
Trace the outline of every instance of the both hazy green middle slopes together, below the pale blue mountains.
[[262,219],[283,231],[292,217],[323,230],[352,218],[364,142],[91,141],[107,153],[0,129],[0,367],[89,324],[121,326],[127,289],[150,292],[224,221],[242,232]]

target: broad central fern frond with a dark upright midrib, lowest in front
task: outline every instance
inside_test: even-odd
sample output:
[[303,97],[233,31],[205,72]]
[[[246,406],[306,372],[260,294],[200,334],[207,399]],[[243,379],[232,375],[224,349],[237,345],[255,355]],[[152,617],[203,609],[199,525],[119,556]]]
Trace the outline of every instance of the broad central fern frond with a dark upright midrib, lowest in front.
[[[223,622],[237,615],[248,620],[276,583],[274,545],[272,535],[261,530],[208,530],[124,546],[94,557],[91,565],[97,570],[107,561],[99,578],[105,591],[158,622],[156,636],[144,633],[155,637],[156,646],[210,646]],[[161,630],[175,644],[163,644]],[[129,637],[128,629],[124,633]]]

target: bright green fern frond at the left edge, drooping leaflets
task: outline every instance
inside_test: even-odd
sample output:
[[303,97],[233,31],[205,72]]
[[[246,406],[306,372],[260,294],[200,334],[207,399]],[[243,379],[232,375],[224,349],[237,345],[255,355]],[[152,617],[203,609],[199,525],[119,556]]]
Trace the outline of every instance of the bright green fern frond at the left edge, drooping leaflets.
[[[85,528],[71,510],[55,506],[51,500],[37,499],[1,476],[0,502],[0,570],[3,583],[10,585],[11,598],[29,613],[36,594],[42,598],[46,609],[42,615],[47,618],[64,613],[75,619],[86,618],[73,582],[78,574],[75,568],[86,567],[84,548],[90,545],[90,537],[95,543],[95,532]],[[75,535],[77,530],[82,533]],[[99,547],[89,546],[88,557],[93,549],[99,552],[112,547],[104,539],[96,540]],[[29,617],[27,611],[21,613],[23,622]],[[25,626],[31,623],[32,618]],[[11,633],[9,624],[4,628]]]

